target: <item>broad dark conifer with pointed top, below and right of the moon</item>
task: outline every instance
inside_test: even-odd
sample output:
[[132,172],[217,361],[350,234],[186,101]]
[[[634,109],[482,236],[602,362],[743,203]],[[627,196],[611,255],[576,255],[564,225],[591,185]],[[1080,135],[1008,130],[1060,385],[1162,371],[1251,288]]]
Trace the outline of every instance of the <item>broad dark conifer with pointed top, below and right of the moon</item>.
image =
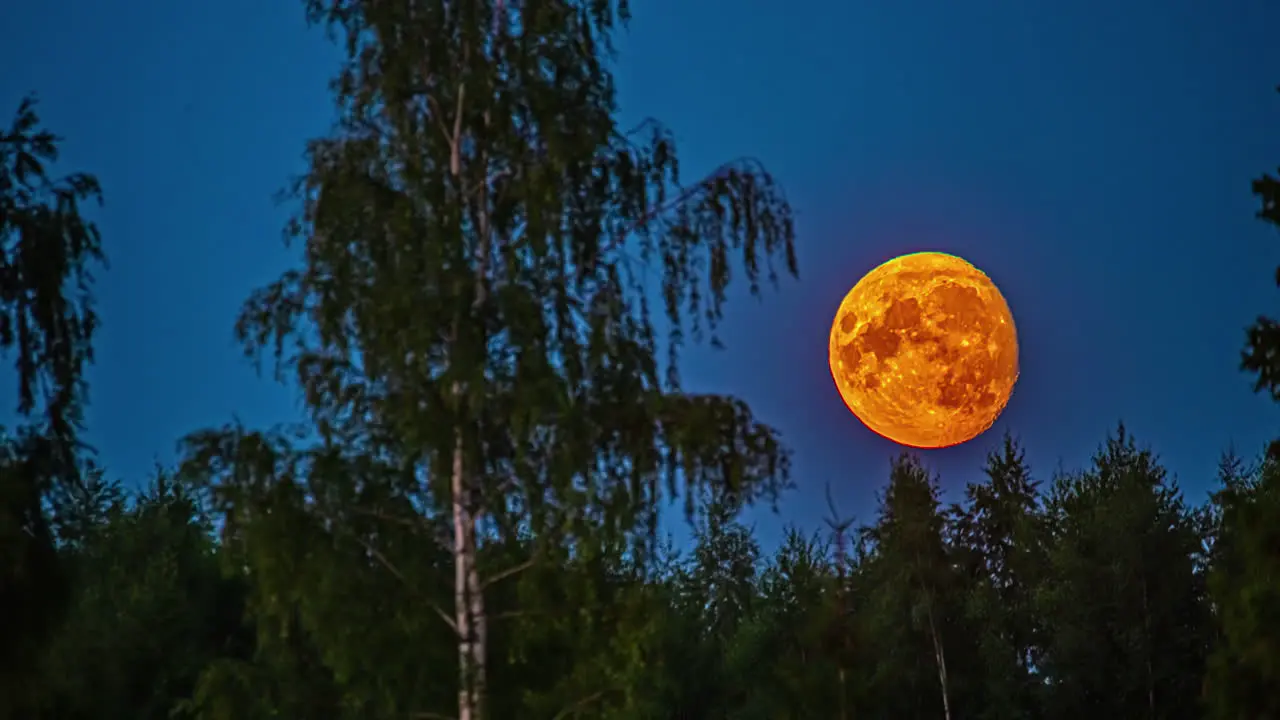
[[1203,537],[1175,483],[1120,425],[1059,478],[1038,609],[1048,717],[1197,717],[1208,643]]

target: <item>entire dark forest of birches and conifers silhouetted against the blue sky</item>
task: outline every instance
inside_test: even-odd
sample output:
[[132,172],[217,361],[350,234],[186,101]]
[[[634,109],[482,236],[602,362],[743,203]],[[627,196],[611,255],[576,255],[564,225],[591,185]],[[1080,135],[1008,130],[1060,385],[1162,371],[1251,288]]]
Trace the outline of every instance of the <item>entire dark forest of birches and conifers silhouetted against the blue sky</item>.
[[[791,208],[616,124],[626,3],[305,5],[338,122],[292,188],[305,261],[236,327],[302,425],[111,479],[81,442],[100,188],[52,176],[35,102],[0,132],[0,717],[1280,717],[1280,452],[1199,503],[1124,427],[1053,477],[983,437],[959,503],[904,454],[864,524],[765,552],[740,518],[786,502],[787,448],[678,360],[731,279],[795,274]],[[1242,340],[1280,400],[1280,327]]]

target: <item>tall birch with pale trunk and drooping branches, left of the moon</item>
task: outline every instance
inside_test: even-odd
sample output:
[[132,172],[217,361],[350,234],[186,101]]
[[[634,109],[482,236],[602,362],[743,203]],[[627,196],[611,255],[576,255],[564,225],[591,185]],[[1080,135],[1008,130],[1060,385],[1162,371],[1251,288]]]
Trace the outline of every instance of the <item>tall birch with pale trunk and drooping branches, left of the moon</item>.
[[[302,388],[308,439],[247,473],[247,434],[200,433],[188,469],[227,500],[287,466],[328,533],[376,495],[388,523],[447,547],[457,719],[480,720],[486,588],[518,575],[485,577],[486,543],[632,538],[643,556],[662,497],[692,511],[786,482],[777,433],[740,400],[686,392],[678,357],[686,338],[717,341],[731,277],[754,295],[795,274],[791,210],[754,160],[687,183],[663,126],[618,126],[626,0],[305,5],[346,53],[338,120],[293,187],[302,266],[256,292],[237,332]],[[381,470],[333,471],[353,465]],[[320,466],[326,497],[308,484]],[[270,521],[227,509],[232,525]],[[379,532],[358,538],[370,556]]]

